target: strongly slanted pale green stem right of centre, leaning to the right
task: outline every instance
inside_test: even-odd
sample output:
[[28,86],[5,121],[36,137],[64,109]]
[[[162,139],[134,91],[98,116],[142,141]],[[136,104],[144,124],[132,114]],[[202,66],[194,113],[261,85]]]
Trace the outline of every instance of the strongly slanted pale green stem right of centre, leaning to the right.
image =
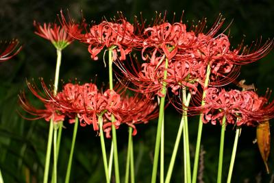
[[[188,93],[188,97],[186,99],[186,102],[184,103],[185,106],[188,106],[188,104],[190,102],[190,97],[191,97],[191,95],[190,95],[190,93]],[[174,148],[173,148],[173,152],[172,152],[172,155],[171,155],[171,162],[169,163],[169,169],[166,173],[165,183],[169,183],[171,181],[171,175],[173,173],[173,167],[174,167],[174,164],[175,164],[175,158],[176,158],[178,147],[179,147],[179,141],[181,140],[181,136],[182,136],[182,132],[183,132],[183,128],[184,128],[184,121],[185,121],[185,118],[184,118],[184,114],[183,114],[182,119],[181,119],[181,123],[179,124],[179,130],[177,132],[177,137],[176,137],[176,140],[175,140],[175,145],[174,145]]]

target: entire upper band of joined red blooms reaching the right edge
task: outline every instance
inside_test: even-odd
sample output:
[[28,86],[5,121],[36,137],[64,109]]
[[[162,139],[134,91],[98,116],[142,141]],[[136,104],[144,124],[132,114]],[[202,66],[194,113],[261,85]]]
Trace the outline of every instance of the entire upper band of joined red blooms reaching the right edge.
[[[185,86],[195,93],[197,86],[203,86],[205,82],[208,64],[210,85],[229,84],[238,76],[241,64],[254,62],[273,48],[273,40],[269,40],[258,50],[251,51],[242,46],[231,50],[228,37],[217,34],[224,23],[221,16],[206,34],[202,33],[206,21],[201,21],[194,26],[195,29],[187,31],[182,21],[168,23],[165,15],[163,18],[157,17],[152,27],[145,27],[145,23],[134,26],[123,16],[115,23],[102,21],[98,25],[92,25],[90,29],[86,29],[86,23],[83,23],[86,32],[82,33],[80,27],[71,26],[73,21],[66,21],[62,11],[61,16],[63,27],[71,36],[89,45],[88,51],[94,60],[98,59],[98,53],[104,48],[113,50],[115,61],[125,60],[132,49],[141,48],[142,60],[147,62],[137,69],[136,63],[116,64],[123,77],[136,85],[136,90],[142,93],[162,95],[160,90],[163,82],[175,95],[179,88]],[[169,61],[167,68],[165,59]],[[163,78],[164,71],[167,71],[166,80]]]

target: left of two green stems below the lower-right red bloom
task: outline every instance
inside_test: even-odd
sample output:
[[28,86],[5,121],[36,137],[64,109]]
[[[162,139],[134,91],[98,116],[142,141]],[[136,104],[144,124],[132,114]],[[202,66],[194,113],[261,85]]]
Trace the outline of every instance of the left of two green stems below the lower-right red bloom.
[[218,165],[218,177],[217,177],[217,183],[222,182],[222,168],[223,168],[223,146],[225,141],[225,116],[222,120],[222,129],[221,129],[221,141],[220,141],[220,153],[219,153],[219,165]]

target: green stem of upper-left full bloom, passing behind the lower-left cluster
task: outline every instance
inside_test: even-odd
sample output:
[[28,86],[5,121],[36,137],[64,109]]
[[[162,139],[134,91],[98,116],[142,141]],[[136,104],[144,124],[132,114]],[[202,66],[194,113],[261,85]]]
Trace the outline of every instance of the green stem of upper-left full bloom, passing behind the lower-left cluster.
[[[109,61],[109,78],[110,78],[110,90],[113,90],[113,82],[112,82],[112,49],[108,51],[108,61]],[[117,150],[117,140],[116,140],[116,128],[114,125],[115,118],[114,115],[111,115],[112,119],[112,142],[114,147],[114,170],[115,170],[115,180],[116,183],[120,183],[120,175],[119,175],[119,160],[118,160],[118,150]]]

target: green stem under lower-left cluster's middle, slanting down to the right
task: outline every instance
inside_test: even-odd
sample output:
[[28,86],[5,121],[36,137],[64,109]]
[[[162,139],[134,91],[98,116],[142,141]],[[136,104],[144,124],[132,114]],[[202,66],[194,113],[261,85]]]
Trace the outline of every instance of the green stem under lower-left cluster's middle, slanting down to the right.
[[103,136],[103,117],[100,115],[98,117],[99,127],[100,127],[100,141],[101,141],[101,149],[103,154],[103,167],[105,169],[105,180],[107,183],[110,183],[110,178],[108,177],[108,160],[107,154],[105,153],[105,139]]

